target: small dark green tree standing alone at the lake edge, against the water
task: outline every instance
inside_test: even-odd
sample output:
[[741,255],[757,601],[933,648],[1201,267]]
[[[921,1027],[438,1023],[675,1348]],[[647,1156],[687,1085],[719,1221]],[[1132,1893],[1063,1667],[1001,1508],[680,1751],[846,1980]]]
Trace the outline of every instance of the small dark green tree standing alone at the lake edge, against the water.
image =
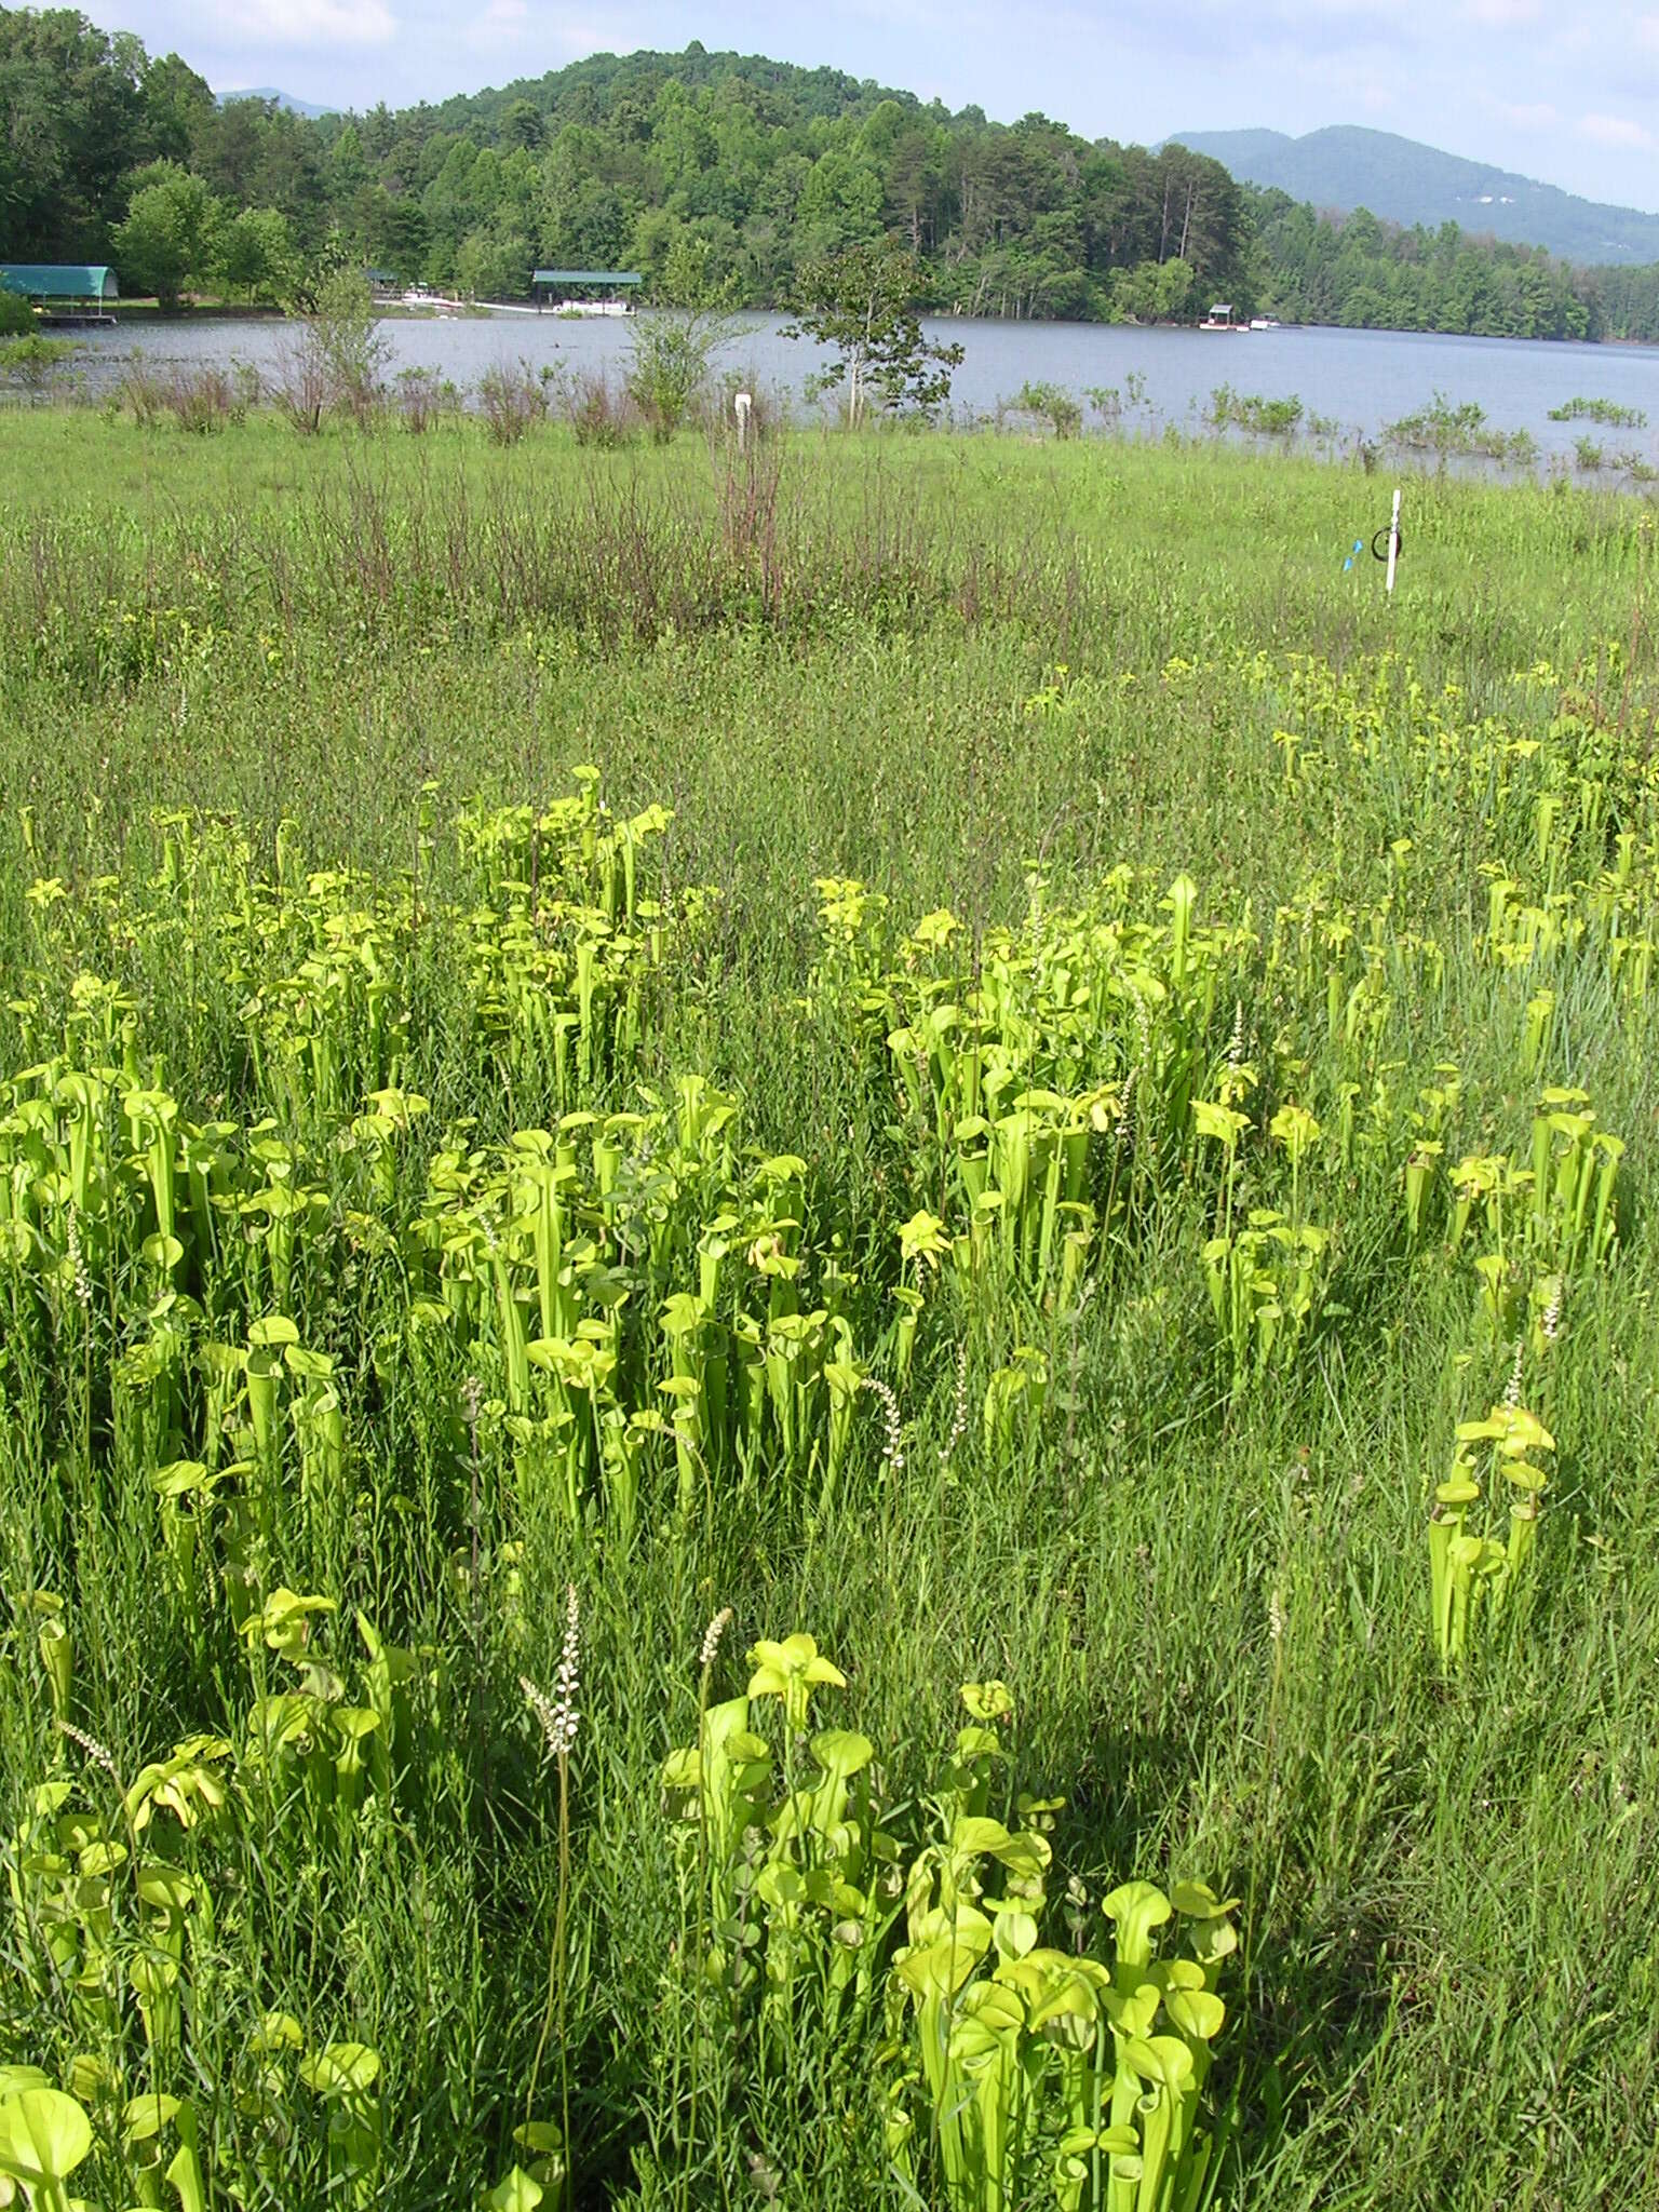
[[962,361],[962,347],[922,336],[911,307],[918,290],[914,257],[891,239],[852,246],[801,270],[799,316],[783,336],[816,338],[841,356],[812,383],[818,392],[847,385],[847,429],[858,429],[872,389],[885,407],[911,405],[922,414],[951,396],[951,369]]

